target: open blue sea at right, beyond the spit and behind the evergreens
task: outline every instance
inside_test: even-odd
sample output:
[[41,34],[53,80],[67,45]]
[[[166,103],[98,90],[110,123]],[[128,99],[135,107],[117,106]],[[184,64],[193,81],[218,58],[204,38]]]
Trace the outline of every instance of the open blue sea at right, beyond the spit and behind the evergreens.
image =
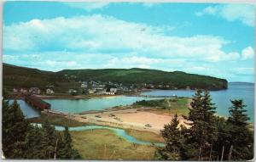
[[[254,121],[254,85],[253,83],[229,83],[229,89],[210,92],[212,103],[217,107],[218,115],[228,116],[231,106],[230,99],[242,99],[247,105],[247,115],[250,121]],[[172,96],[192,97],[195,91],[186,90],[154,90],[151,92],[143,92],[145,95],[154,96]]]

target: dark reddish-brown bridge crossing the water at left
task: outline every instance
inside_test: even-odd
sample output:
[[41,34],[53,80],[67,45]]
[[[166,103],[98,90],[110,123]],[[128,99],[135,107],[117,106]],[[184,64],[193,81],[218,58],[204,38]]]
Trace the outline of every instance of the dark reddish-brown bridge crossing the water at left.
[[44,109],[50,109],[50,104],[46,103],[43,99],[37,98],[33,95],[26,95],[25,96],[25,102],[30,104],[33,108],[44,110]]

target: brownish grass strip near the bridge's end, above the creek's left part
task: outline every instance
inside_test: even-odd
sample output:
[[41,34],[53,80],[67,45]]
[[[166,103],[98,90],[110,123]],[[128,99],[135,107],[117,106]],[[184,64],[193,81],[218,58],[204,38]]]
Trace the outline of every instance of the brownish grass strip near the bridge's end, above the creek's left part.
[[37,118],[28,119],[32,123],[42,123],[44,120],[49,120],[49,123],[55,126],[86,126],[88,124],[82,123],[76,120],[68,120],[65,117],[58,116],[58,115],[41,115]]

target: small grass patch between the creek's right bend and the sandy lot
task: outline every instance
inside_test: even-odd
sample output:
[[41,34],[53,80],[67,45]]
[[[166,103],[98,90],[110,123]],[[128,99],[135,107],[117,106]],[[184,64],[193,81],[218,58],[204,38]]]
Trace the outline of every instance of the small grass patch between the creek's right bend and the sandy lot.
[[147,141],[147,142],[164,142],[164,138],[161,137],[160,134],[156,134],[154,132],[149,131],[137,131],[137,130],[131,130],[127,129],[125,130],[127,134],[129,134],[132,137],[137,138],[141,141]]

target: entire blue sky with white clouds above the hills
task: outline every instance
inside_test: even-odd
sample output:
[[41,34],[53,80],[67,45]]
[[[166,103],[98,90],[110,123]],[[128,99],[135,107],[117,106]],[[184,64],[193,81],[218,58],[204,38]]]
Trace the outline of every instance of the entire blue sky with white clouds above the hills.
[[255,10],[235,3],[6,2],[3,62],[253,80]]

